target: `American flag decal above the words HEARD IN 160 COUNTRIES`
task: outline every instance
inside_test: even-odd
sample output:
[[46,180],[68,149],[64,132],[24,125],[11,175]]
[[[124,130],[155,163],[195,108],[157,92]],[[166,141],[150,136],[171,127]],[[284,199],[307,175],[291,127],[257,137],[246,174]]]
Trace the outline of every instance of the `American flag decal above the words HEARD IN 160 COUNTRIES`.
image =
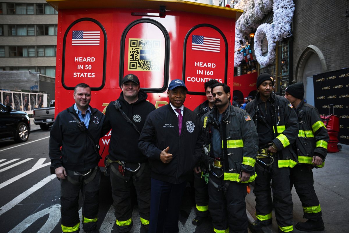
[[221,39],[193,35],[192,50],[220,52]]

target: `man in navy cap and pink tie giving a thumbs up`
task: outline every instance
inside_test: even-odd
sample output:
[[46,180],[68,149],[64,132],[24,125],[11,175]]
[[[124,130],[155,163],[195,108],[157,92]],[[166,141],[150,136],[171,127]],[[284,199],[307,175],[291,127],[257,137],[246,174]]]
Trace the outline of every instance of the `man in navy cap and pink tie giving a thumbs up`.
[[151,198],[149,232],[178,232],[181,197],[203,145],[197,114],[185,108],[187,88],[172,80],[170,104],[152,111],[146,119],[139,149],[149,157]]

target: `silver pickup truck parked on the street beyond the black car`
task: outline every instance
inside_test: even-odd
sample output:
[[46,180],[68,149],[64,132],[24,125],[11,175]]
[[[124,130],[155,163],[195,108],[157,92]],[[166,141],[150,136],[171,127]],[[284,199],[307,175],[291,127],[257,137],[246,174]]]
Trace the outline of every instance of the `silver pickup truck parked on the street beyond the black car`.
[[40,129],[48,130],[54,122],[54,100],[48,108],[36,108],[34,112],[34,124],[40,125]]

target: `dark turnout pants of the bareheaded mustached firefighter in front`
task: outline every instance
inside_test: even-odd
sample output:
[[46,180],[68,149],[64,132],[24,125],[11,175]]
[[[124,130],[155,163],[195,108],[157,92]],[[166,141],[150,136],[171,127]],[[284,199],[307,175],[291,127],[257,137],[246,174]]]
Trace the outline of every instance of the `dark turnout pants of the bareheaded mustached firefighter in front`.
[[[217,173],[221,174],[221,172]],[[209,179],[222,187],[225,182],[229,182],[226,191],[224,189],[218,191],[211,182],[208,183],[208,209],[212,217],[214,231],[224,231],[229,227],[230,233],[247,233],[248,220],[245,202],[247,184],[223,181],[223,176],[217,178],[212,174],[210,174]]]

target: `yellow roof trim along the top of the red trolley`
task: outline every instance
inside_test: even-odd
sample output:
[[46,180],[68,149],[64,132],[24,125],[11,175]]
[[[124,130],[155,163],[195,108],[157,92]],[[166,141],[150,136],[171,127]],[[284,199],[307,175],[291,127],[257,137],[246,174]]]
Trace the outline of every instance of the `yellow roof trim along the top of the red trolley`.
[[244,12],[240,9],[182,0],[46,0],[46,2],[56,10],[76,8],[137,8],[158,10],[159,6],[165,6],[166,10],[221,16],[232,19],[238,19]]

